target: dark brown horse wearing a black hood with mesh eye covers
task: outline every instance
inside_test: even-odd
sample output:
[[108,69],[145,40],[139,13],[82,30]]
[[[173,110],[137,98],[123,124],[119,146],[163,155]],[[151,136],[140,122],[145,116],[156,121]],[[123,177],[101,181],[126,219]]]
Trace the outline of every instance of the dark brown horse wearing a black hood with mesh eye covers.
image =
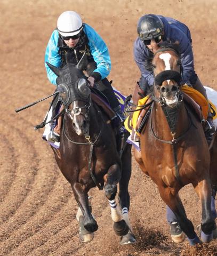
[[[135,237],[128,218],[131,146],[126,143],[122,155],[118,154],[115,130],[105,112],[92,100],[82,61],[83,58],[77,66],[70,63],[63,68],[47,63],[60,79],[57,90],[65,107],[60,148],[52,147],[52,150],[79,206],[76,217],[82,242],[90,242],[98,229],[88,195],[89,190],[97,186],[99,189],[104,187],[109,199],[114,230],[121,237],[120,244],[133,243]],[[118,183],[122,212],[115,201]]]

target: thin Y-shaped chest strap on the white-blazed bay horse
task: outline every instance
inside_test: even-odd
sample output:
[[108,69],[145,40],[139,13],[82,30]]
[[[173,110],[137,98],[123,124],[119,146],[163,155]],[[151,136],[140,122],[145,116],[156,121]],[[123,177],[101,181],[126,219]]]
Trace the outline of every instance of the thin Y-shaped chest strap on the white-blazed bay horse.
[[[152,109],[153,109],[153,106],[151,108],[151,116],[152,116]],[[164,111],[164,109],[163,109]],[[164,111],[164,114],[166,116],[166,112]],[[181,181],[181,178],[180,178],[180,175],[179,175],[179,166],[178,166],[178,159],[177,159],[177,150],[176,150],[176,144],[184,138],[184,136],[188,133],[188,131],[190,130],[191,128],[191,125],[192,125],[192,120],[191,120],[191,117],[188,113],[188,110],[187,110],[187,114],[188,114],[188,117],[190,119],[190,125],[187,129],[186,132],[184,132],[182,135],[180,135],[178,138],[175,138],[175,131],[174,131],[174,122],[171,121],[170,117],[167,117],[166,116],[166,119],[167,119],[167,122],[168,122],[168,125],[170,126],[170,129],[171,129],[171,135],[172,135],[172,140],[162,140],[160,138],[157,137],[157,135],[155,134],[154,132],[154,129],[153,129],[153,126],[152,126],[152,118],[151,118],[151,131],[154,135],[154,137],[158,140],[158,141],[161,141],[163,143],[167,143],[167,144],[170,144],[172,145],[172,149],[173,149],[173,161],[174,161],[174,165],[175,165],[175,178],[178,180],[178,182],[180,183],[181,187],[183,187],[183,182]]]

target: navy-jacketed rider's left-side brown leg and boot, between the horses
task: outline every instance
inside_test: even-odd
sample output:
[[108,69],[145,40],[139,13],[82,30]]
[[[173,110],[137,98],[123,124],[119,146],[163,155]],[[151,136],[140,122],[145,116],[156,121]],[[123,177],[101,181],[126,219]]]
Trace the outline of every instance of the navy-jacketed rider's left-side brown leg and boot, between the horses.
[[[133,91],[133,106],[132,106],[132,110],[135,110],[136,107],[138,106],[138,102],[140,99],[144,98],[146,95],[144,95],[144,91],[140,88],[139,86],[139,82],[136,82],[134,91]],[[133,112],[131,112],[130,117],[132,119],[133,117]],[[140,141],[140,137],[138,134],[135,133],[134,130],[132,130],[132,135],[131,135],[131,139],[133,141]]]

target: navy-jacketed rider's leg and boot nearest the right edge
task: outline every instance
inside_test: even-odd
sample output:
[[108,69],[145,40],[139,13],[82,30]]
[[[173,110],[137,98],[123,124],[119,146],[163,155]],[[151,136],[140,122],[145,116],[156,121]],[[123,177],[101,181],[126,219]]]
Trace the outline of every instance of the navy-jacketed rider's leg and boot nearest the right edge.
[[[197,77],[197,81],[194,85],[194,89],[199,91],[208,101],[206,90],[205,90],[203,84],[200,82],[199,77]],[[212,116],[211,107],[209,104],[208,105],[208,116],[207,116],[206,122],[204,124],[204,133],[205,133],[206,140],[207,140],[207,143],[209,146],[210,146],[210,143],[212,142],[214,132],[215,132],[215,125],[213,123],[213,116]]]

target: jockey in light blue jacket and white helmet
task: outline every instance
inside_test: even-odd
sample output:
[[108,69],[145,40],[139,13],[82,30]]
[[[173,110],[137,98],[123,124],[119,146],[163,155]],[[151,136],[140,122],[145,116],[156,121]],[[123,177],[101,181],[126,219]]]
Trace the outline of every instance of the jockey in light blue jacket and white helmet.
[[[117,123],[124,121],[119,102],[115,93],[106,78],[111,70],[111,60],[108,48],[97,32],[86,23],[74,11],[63,12],[57,21],[57,28],[53,31],[45,51],[45,67],[50,82],[57,85],[59,77],[47,66],[46,62],[55,67],[62,68],[68,63],[77,65],[84,52],[87,63],[84,67],[87,80],[91,87],[97,87],[108,99],[111,108],[118,117]],[[52,107],[56,109],[58,97],[55,97]],[[55,116],[53,111],[52,118]],[[56,131],[56,132],[55,132]],[[50,141],[59,140],[59,130],[51,131]]]

